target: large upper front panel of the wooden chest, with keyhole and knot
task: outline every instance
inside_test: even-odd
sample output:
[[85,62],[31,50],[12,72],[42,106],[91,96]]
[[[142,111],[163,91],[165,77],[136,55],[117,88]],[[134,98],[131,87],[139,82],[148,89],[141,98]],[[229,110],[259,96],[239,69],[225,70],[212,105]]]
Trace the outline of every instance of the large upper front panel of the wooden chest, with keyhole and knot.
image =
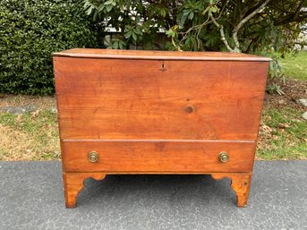
[[268,63],[55,57],[60,138],[257,139]]

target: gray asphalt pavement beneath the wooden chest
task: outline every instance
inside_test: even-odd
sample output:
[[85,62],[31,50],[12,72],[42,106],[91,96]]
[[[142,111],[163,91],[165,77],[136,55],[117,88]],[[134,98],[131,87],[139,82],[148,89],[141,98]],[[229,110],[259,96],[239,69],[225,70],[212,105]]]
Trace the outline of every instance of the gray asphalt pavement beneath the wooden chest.
[[87,179],[64,208],[60,162],[0,162],[0,230],[307,229],[307,161],[256,162],[248,207],[208,175]]

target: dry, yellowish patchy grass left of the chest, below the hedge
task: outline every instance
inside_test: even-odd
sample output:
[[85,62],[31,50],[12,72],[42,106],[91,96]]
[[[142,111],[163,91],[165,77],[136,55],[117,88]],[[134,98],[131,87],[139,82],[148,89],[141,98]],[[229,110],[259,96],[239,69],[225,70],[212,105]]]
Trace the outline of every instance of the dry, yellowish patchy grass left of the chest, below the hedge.
[[[4,101],[1,101],[2,106]],[[0,160],[59,159],[55,98],[9,96],[4,106],[35,103],[38,111],[23,115],[0,114]]]

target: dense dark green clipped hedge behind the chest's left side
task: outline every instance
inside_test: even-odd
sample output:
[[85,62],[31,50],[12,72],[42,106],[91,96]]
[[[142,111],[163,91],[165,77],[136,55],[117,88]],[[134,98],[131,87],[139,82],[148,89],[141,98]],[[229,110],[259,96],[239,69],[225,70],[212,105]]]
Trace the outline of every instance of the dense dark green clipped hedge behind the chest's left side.
[[98,47],[78,0],[0,1],[0,92],[51,94],[51,54]]

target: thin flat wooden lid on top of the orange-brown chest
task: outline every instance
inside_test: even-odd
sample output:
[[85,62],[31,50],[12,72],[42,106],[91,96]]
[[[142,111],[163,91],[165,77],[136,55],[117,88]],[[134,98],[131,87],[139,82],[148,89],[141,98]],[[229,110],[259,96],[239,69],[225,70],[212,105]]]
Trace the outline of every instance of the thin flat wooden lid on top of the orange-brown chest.
[[157,50],[118,50],[98,48],[73,48],[56,52],[53,56],[113,59],[149,59],[149,60],[208,60],[208,61],[256,61],[269,62],[269,57],[229,52],[190,52]]

